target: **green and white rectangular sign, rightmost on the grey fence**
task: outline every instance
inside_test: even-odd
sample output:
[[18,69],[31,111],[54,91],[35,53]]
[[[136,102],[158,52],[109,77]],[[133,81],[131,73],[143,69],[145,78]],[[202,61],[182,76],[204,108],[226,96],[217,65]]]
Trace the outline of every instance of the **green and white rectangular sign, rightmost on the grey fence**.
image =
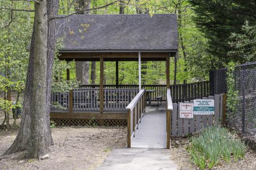
[[194,115],[214,115],[213,99],[194,100]]

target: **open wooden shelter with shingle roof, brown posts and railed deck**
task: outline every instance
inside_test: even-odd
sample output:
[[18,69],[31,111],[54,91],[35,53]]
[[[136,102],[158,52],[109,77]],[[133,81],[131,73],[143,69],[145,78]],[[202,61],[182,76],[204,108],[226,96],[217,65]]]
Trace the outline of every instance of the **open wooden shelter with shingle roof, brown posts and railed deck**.
[[[100,85],[53,93],[52,102],[59,102],[62,108],[52,108],[51,119],[58,124],[71,125],[127,125],[127,120],[129,124],[129,104],[137,104],[137,112],[142,113],[145,109],[146,96],[142,87],[147,85],[141,85],[141,61],[166,61],[166,85],[154,85],[156,88],[164,87],[163,98],[166,99],[166,89],[170,87],[170,57],[175,56],[178,50],[176,15],[62,17],[57,21],[57,37],[63,39],[59,58],[66,61],[100,61]],[[116,61],[117,84],[103,84],[104,61]],[[139,86],[118,85],[118,61],[138,61]],[[138,120],[140,116],[138,114]]]

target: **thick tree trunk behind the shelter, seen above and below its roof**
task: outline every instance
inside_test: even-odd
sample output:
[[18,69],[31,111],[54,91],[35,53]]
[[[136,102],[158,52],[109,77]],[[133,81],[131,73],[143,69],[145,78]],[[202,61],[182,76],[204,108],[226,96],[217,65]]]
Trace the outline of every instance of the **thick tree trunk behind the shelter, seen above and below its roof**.
[[[77,11],[90,9],[90,0],[76,0]],[[89,14],[90,11],[81,11],[78,14]],[[89,84],[89,61],[76,61],[76,80],[81,84]]]

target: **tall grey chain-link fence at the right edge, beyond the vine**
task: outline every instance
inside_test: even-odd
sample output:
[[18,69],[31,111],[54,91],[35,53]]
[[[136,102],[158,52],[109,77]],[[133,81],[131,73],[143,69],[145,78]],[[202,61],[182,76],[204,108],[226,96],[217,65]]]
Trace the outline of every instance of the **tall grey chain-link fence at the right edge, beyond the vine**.
[[[234,98],[236,107],[228,115],[231,127],[241,132],[245,140],[256,143],[256,62],[235,67]],[[234,96],[235,97],[235,96]]]

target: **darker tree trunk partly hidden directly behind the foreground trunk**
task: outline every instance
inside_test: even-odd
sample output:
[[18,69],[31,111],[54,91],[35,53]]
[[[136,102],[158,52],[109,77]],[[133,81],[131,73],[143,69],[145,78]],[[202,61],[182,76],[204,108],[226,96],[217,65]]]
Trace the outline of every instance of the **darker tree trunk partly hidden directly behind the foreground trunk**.
[[[48,0],[49,5],[47,5],[47,18],[50,19],[52,17],[56,17],[58,14],[58,6],[59,0]],[[47,132],[50,133],[50,94],[51,94],[51,80],[52,80],[52,65],[53,65],[53,58],[54,58],[54,48],[55,48],[55,23],[56,20],[51,20],[48,22],[48,36],[47,36],[47,78],[46,78],[46,124],[47,124]],[[34,79],[34,45],[35,45],[35,35],[34,35],[34,28],[33,34],[31,38],[30,44],[30,54],[29,54],[29,63],[28,63],[28,71],[27,71],[27,79],[26,79],[26,88],[25,88],[25,96],[23,100],[23,109],[22,109],[22,118],[21,124],[19,128],[18,135],[11,145],[11,147],[4,153],[10,154],[22,150],[26,150],[30,135],[30,113],[31,113],[31,106],[32,106],[32,85]],[[51,143],[53,141],[51,140]]]

